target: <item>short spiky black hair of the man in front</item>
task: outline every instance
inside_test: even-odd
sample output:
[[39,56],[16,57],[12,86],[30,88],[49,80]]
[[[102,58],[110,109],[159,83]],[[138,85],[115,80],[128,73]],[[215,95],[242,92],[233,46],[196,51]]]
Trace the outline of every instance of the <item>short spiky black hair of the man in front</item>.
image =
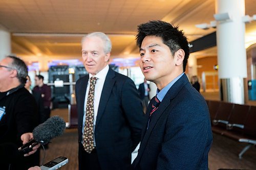
[[184,36],[183,31],[179,30],[179,27],[174,27],[170,23],[161,20],[142,23],[138,26],[136,35],[136,44],[139,48],[146,36],[161,37],[163,43],[170,48],[173,56],[179,49],[182,49],[185,52],[183,60],[183,71],[185,71],[189,56],[189,47],[187,38]]

